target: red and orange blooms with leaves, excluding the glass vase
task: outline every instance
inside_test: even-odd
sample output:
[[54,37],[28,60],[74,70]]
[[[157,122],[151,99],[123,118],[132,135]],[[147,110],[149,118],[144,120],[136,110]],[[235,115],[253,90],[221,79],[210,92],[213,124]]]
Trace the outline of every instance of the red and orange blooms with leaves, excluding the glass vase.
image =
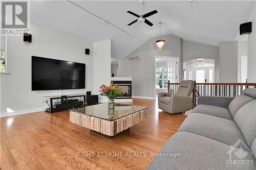
[[122,89],[120,86],[113,85],[112,83],[109,86],[102,84],[99,92],[101,96],[106,96],[110,100],[114,100],[114,98],[122,96]]

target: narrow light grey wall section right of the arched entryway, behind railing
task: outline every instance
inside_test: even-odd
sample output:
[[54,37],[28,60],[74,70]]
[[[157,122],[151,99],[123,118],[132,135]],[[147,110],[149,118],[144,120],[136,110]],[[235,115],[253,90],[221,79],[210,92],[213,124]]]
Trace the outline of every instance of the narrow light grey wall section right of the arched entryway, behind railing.
[[238,81],[238,41],[220,43],[220,82]]

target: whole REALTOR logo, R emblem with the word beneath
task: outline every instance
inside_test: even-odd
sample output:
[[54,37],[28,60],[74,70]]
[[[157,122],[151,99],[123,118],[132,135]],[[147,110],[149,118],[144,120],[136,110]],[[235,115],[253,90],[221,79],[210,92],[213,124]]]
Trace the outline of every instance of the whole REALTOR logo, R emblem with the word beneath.
[[1,3],[1,35],[23,35],[29,32],[29,2]]

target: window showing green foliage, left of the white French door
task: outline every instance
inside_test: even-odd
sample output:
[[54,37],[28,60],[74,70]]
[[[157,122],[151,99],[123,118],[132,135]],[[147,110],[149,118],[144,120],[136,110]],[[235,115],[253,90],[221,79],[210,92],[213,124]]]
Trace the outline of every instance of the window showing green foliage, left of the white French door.
[[156,89],[165,89],[167,87],[166,71],[166,67],[159,67],[156,69]]

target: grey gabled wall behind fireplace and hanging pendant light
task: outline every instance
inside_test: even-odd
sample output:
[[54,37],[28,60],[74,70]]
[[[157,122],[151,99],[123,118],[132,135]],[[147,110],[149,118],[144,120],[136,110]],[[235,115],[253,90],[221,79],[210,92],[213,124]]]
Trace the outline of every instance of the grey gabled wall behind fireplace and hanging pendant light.
[[[119,61],[119,77],[133,78],[133,96],[155,98],[155,56],[180,57],[180,37],[169,34],[162,38],[165,40],[162,51],[159,51],[156,46],[158,37],[152,38]],[[136,56],[141,60],[129,60],[129,57]]]

